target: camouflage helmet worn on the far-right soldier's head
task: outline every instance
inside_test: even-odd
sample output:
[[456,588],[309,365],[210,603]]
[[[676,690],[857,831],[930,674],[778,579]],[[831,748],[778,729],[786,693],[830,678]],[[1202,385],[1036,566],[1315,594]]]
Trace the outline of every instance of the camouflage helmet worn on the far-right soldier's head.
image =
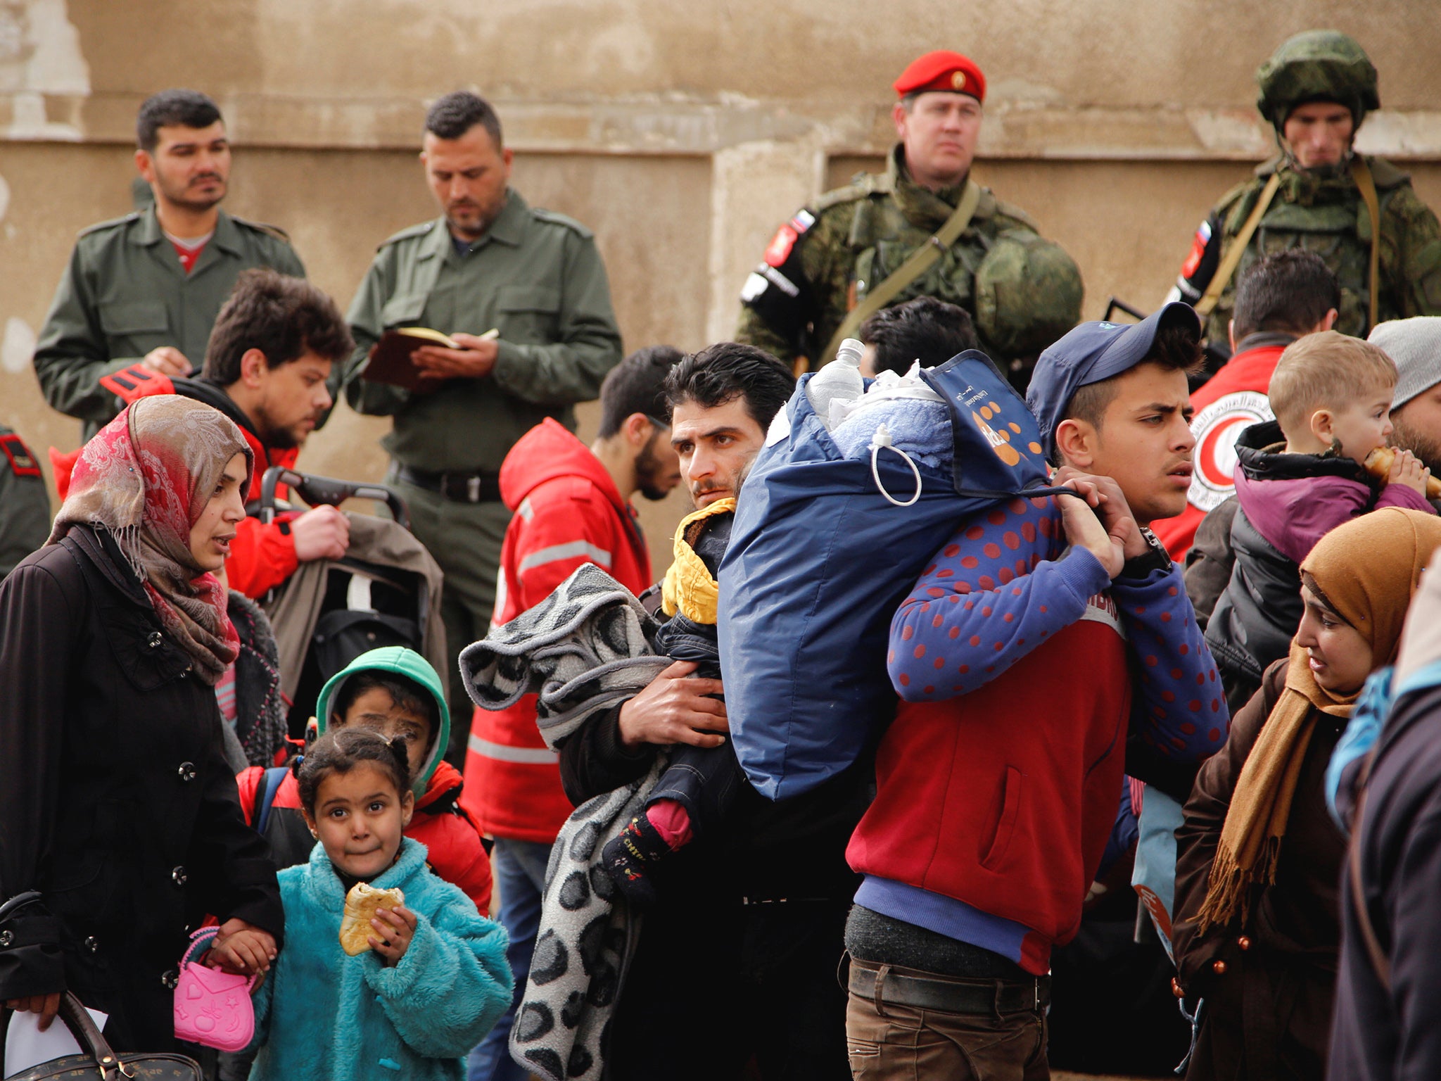
[[1281,43],[1257,69],[1257,108],[1277,131],[1291,110],[1308,101],[1334,101],[1360,127],[1369,110],[1380,108],[1376,66],[1355,37],[1339,30],[1307,30]]

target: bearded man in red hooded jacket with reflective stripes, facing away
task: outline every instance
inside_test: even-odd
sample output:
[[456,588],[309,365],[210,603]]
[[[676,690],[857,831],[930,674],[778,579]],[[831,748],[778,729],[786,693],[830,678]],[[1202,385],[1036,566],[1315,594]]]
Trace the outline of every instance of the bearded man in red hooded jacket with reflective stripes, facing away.
[[[520,437],[500,467],[500,494],[516,515],[506,528],[494,624],[540,604],[582,564],[623,587],[650,585],[650,552],[631,499],[664,499],[680,483],[670,445],[666,376],[680,360],[670,346],[638,349],[601,383],[601,425],[591,445],[553,418]],[[540,924],[546,862],[571,814],[555,752],[536,728],[536,700],[477,709],[465,755],[465,809],[496,839],[506,956],[523,990]],[[522,1081],[506,1048],[519,997],[470,1059],[473,1081]]]

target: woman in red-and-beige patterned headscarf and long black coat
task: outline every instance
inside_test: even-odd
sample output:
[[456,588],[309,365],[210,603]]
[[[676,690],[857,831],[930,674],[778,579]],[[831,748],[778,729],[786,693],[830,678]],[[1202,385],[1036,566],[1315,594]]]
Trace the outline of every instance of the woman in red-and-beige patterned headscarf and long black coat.
[[0,585],[0,1000],[53,1015],[73,992],[120,1051],[174,1044],[187,927],[218,917],[212,957],[252,971],[284,928],[212,690],[238,653],[212,572],[251,468],[220,412],[144,398]]

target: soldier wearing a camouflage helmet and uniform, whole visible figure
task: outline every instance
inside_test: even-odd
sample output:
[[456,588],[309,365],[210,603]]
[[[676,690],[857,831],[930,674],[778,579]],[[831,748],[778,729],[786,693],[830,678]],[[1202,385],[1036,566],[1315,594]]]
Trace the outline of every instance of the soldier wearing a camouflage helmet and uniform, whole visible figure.
[[1441,314],[1435,213],[1406,173],[1353,151],[1366,112],[1380,107],[1376,69],[1360,45],[1336,30],[1298,33],[1261,65],[1257,82],[1257,108],[1275,130],[1280,154],[1200,223],[1169,300],[1193,304],[1212,346],[1223,346],[1246,268],[1275,251],[1310,248],[1342,284],[1336,330],[1343,334],[1365,337],[1376,323]]

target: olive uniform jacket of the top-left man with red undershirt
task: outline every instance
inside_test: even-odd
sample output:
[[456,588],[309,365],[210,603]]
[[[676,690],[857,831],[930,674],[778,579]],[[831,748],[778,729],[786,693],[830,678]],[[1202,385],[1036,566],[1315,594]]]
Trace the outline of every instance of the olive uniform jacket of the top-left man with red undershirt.
[[189,274],[161,232],[154,206],[85,229],[35,349],[45,399],[85,421],[89,438],[120,412],[101,378],[160,346],[179,349],[199,368],[220,306],[241,271],[251,267],[305,277],[280,229],[225,210]]

